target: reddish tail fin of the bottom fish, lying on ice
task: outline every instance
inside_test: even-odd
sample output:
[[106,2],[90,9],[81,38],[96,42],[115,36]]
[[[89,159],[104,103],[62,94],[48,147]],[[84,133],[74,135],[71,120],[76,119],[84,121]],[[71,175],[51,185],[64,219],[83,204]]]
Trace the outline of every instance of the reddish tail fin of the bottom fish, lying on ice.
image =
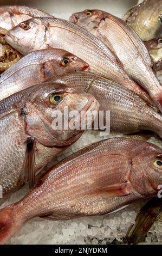
[[[17,221],[18,220],[18,221]],[[18,219],[15,205],[0,210],[0,244],[4,244],[21,228],[22,222]]]

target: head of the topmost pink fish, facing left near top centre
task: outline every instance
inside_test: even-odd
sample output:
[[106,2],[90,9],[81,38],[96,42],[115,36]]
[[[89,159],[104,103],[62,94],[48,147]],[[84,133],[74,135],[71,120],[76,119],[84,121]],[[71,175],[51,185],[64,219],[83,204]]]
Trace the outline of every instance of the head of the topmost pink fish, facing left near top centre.
[[101,10],[85,10],[80,13],[72,14],[69,20],[90,31],[98,27],[103,17],[104,12]]

